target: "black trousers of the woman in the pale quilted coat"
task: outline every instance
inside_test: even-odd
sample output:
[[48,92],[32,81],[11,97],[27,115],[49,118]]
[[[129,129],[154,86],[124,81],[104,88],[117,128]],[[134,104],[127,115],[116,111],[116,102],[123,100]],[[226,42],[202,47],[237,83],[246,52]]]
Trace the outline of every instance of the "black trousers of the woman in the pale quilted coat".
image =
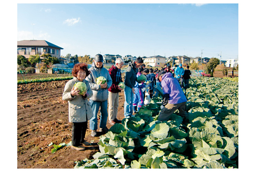
[[84,142],[85,132],[87,129],[87,121],[73,122],[72,126],[72,146],[80,146]]

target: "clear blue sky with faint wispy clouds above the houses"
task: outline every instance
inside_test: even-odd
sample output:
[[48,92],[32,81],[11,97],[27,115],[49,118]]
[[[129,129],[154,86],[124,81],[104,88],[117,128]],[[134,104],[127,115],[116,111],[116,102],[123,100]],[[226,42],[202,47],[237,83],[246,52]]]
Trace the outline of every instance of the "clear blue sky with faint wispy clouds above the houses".
[[17,29],[18,41],[49,41],[63,56],[238,57],[237,3],[18,4]]

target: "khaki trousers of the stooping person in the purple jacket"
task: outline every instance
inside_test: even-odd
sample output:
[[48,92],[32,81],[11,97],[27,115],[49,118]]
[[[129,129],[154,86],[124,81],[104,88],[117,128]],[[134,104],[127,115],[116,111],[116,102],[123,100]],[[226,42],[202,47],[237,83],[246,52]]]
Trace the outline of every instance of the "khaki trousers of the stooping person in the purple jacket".
[[182,102],[179,104],[167,104],[165,105],[165,107],[163,109],[161,109],[160,113],[159,113],[159,117],[158,120],[159,121],[168,121],[171,117],[171,115],[173,114],[173,112],[175,112],[176,110],[179,110],[179,115],[182,117],[186,117],[187,116],[187,112],[186,112],[186,102]]

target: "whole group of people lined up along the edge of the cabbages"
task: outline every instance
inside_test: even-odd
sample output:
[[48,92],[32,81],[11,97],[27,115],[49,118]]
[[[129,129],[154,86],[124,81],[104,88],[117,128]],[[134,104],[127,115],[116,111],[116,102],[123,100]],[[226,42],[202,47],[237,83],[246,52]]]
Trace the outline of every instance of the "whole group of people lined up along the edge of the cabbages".
[[[117,119],[119,94],[122,90],[118,84],[121,82],[125,85],[125,118],[134,116],[143,105],[150,103],[153,95],[158,96],[160,92],[163,97],[158,120],[169,120],[177,109],[179,115],[186,118],[187,98],[182,88],[185,90],[188,88],[188,79],[191,74],[189,66],[185,71],[181,65],[175,70],[169,66],[164,66],[161,70],[158,68],[153,70],[145,68],[143,59],[138,57],[135,61],[128,63],[123,81],[121,73],[123,65],[124,60],[117,58],[115,64],[107,70],[103,66],[103,56],[97,54],[91,68],[88,69],[85,63],[78,63],[73,67],[73,79],[66,83],[63,92],[63,100],[68,101],[69,105],[69,122],[73,123],[72,149],[85,150],[83,145],[89,145],[84,140],[88,121],[91,136],[97,136],[99,109],[99,132],[108,131],[107,118],[111,125],[121,123],[121,120]],[[145,75],[147,82],[138,81],[137,78],[140,75]],[[101,81],[97,84],[99,76],[106,78],[106,82]],[[77,82],[83,82],[87,86],[87,91],[83,95],[79,94],[80,90],[74,87]]]

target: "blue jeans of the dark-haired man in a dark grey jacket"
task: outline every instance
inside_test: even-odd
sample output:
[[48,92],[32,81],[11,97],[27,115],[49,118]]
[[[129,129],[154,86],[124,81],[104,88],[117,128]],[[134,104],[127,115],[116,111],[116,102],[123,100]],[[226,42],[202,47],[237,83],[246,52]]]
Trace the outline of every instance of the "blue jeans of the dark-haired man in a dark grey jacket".
[[133,103],[133,92],[132,88],[126,86],[124,88],[124,117],[131,117],[132,116],[132,103]]

